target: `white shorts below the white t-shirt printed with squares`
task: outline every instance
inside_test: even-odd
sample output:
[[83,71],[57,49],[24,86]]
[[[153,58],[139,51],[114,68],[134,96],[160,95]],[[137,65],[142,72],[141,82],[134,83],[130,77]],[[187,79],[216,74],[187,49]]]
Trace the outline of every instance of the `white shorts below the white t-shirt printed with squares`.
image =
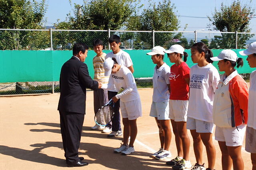
[[187,129],[196,130],[198,133],[212,133],[214,124],[194,118],[187,118]]

